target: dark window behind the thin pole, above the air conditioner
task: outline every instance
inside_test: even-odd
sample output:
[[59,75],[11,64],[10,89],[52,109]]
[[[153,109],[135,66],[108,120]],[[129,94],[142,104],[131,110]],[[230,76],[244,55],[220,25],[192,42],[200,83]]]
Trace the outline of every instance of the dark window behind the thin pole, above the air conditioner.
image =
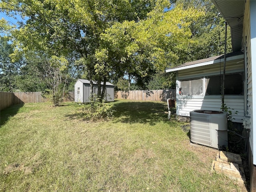
[[[222,75],[206,77],[206,95],[221,95]],[[243,73],[225,75],[225,95],[244,95]]]

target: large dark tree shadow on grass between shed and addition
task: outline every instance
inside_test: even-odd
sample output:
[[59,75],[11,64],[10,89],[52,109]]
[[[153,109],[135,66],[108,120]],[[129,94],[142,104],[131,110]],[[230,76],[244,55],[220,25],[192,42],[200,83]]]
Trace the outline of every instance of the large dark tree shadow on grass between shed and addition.
[[[149,123],[155,125],[157,121],[168,121],[168,107],[159,102],[120,102],[115,104],[116,122]],[[173,113],[173,112],[172,112]]]

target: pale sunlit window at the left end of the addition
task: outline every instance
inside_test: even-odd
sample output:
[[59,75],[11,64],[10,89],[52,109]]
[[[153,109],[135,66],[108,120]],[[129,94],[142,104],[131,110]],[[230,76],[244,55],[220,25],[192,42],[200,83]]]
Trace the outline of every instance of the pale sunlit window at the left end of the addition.
[[203,79],[181,81],[179,94],[202,95],[203,94]]

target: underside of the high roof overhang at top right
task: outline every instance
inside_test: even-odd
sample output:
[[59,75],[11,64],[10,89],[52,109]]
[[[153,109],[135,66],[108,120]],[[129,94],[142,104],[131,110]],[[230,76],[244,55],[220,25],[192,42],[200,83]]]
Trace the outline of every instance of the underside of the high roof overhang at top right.
[[233,52],[240,51],[243,35],[245,0],[212,0],[231,28]]

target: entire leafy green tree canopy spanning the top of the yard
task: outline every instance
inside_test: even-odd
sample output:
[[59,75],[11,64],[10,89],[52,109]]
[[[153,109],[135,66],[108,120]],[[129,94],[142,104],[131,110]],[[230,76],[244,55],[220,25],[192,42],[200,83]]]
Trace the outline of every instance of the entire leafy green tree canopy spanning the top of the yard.
[[[31,72],[32,57],[65,57],[73,73],[69,78],[83,75],[91,83],[97,80],[100,87],[102,81],[117,83],[127,77],[129,85],[134,79],[149,88],[149,81],[156,85],[154,77],[161,79],[154,74],[166,67],[213,56],[222,49],[223,21],[216,18],[209,0],[196,2],[2,0],[2,12],[25,20],[17,28],[1,20],[0,28],[12,37],[10,62],[26,58],[19,67],[23,77]],[[104,87],[98,90],[102,97]]]

